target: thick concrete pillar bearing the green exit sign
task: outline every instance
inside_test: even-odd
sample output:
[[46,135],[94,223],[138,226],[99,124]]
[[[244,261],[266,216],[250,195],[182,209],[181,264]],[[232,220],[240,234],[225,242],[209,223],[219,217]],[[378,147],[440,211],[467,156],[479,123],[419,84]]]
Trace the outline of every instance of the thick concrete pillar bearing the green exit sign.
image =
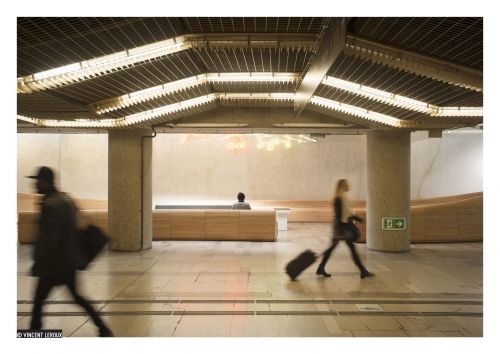
[[[367,134],[366,246],[382,252],[410,250],[410,132]],[[406,218],[406,230],[383,230],[383,217]]]

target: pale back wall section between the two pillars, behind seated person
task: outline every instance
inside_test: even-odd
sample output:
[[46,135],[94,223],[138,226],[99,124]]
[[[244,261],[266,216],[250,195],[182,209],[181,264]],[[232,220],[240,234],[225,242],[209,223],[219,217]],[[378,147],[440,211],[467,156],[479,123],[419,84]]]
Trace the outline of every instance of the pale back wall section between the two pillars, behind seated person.
[[[365,136],[336,136],[318,143],[284,143],[259,149],[256,136],[244,136],[243,150],[227,141],[180,143],[180,136],[154,139],[153,204],[178,200],[247,199],[329,200],[340,178],[352,184],[352,197],[365,198]],[[269,141],[270,139],[266,139]]]

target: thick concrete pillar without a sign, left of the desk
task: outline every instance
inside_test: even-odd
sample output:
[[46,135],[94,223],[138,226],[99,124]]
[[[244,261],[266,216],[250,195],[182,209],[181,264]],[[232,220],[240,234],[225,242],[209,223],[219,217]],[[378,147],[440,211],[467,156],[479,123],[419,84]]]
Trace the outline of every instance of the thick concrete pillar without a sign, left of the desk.
[[152,247],[153,144],[150,138],[142,139],[151,135],[150,129],[108,133],[110,250],[140,251]]

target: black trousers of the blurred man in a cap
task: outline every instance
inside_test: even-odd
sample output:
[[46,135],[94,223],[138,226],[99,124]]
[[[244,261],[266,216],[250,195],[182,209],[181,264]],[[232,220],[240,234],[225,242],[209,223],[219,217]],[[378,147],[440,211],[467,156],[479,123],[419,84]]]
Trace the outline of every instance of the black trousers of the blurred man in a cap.
[[49,275],[39,278],[38,286],[36,287],[35,304],[33,306],[30,329],[42,328],[42,303],[47,298],[47,295],[49,295],[50,290],[52,290],[52,288],[57,285],[66,285],[71,292],[71,295],[73,295],[73,297],[75,298],[77,304],[83,307],[88,312],[88,314],[94,321],[94,324],[99,328],[103,326],[103,323],[97,315],[97,312],[95,312],[95,310],[92,308],[92,306],[90,306],[87,300],[76,293],[75,271],[72,271],[63,275]]

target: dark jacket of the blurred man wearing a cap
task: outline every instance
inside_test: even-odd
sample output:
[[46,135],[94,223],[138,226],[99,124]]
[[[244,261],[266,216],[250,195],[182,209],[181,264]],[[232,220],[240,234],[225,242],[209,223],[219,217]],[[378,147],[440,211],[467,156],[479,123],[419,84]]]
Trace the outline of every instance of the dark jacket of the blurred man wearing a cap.
[[33,276],[65,274],[74,271],[82,261],[76,212],[71,198],[55,188],[43,197]]

